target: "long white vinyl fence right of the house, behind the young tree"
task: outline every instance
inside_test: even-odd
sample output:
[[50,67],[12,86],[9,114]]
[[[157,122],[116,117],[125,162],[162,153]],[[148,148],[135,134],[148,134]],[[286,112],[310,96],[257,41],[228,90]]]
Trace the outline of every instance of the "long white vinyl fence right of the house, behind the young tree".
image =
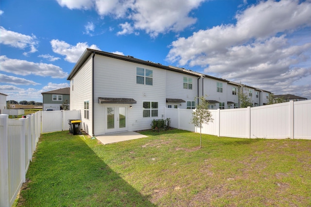
[[[175,128],[199,132],[190,124],[193,110],[165,108]],[[210,110],[213,122],[202,133],[223,137],[311,139],[311,100],[290,101],[260,107]]]

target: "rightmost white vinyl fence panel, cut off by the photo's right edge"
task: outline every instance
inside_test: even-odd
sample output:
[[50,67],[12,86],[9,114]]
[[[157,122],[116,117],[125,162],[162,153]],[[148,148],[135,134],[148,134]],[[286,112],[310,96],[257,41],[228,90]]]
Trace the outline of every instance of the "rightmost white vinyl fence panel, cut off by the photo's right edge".
[[294,102],[294,139],[311,140],[310,106],[311,100]]

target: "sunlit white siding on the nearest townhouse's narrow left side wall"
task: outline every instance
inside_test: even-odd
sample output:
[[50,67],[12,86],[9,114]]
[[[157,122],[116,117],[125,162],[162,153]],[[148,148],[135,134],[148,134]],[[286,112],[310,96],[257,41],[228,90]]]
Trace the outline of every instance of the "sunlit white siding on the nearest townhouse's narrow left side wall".
[[[73,80],[73,90],[72,90]],[[89,119],[84,118],[84,101],[89,101]],[[81,111],[81,128],[89,135],[92,131],[92,57],[80,67],[73,79],[70,80],[70,110]]]

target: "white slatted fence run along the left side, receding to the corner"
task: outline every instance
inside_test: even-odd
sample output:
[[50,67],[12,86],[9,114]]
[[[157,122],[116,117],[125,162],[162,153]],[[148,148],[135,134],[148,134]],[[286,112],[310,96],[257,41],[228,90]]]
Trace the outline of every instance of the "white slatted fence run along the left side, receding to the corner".
[[0,207],[10,207],[26,179],[40,137],[41,111],[27,118],[0,114]]

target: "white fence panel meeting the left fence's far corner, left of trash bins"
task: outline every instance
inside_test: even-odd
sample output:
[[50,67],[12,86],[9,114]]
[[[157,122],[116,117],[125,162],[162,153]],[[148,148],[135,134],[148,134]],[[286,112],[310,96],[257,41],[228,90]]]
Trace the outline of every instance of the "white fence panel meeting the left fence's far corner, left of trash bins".
[[42,133],[63,129],[62,111],[42,111]]

